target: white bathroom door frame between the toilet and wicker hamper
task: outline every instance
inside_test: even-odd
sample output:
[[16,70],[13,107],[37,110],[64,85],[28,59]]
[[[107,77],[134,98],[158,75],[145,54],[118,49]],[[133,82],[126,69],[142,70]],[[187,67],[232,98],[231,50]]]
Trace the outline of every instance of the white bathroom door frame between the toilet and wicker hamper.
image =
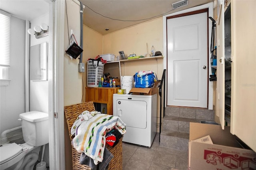
[[[51,0],[50,0],[51,1]],[[49,20],[48,95],[50,170],[65,169],[64,143],[64,16],[65,1],[51,1]]]

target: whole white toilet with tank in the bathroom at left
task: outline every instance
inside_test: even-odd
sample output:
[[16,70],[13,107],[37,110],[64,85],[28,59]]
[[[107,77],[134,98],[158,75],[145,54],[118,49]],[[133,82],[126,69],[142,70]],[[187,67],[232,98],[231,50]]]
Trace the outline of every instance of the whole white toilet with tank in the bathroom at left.
[[40,147],[49,142],[48,114],[30,111],[20,114],[26,143],[0,146],[0,170],[33,170]]

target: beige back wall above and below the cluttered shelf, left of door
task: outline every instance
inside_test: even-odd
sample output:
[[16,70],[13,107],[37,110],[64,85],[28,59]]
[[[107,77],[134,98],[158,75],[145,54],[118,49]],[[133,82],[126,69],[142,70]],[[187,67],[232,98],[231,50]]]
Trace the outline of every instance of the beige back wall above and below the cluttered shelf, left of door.
[[[152,45],[156,51],[163,51],[163,22],[162,18],[157,18],[149,22],[144,22],[123,30],[119,30],[104,35],[103,53],[113,53],[119,55],[118,51],[124,51],[125,54],[136,53],[136,55],[146,55]],[[162,75],[163,60],[153,59],[144,61],[132,61],[122,63],[122,75],[134,75],[140,70],[155,71],[158,78]]]

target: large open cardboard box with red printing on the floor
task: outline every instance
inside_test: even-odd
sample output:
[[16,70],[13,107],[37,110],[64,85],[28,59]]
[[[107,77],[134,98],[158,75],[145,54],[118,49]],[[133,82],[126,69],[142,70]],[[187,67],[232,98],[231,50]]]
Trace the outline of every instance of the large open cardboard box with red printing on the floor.
[[[202,142],[210,137],[211,142]],[[190,170],[253,170],[256,169],[256,153],[243,149],[230,127],[190,123],[188,142],[188,167]]]

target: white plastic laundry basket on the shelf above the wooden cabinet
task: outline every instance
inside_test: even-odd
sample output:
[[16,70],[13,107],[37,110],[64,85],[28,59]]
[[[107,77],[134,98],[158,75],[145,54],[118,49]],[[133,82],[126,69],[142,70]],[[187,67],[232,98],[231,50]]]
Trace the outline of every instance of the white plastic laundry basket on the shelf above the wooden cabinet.
[[98,87],[103,77],[104,63],[101,61],[87,61],[87,87]]

